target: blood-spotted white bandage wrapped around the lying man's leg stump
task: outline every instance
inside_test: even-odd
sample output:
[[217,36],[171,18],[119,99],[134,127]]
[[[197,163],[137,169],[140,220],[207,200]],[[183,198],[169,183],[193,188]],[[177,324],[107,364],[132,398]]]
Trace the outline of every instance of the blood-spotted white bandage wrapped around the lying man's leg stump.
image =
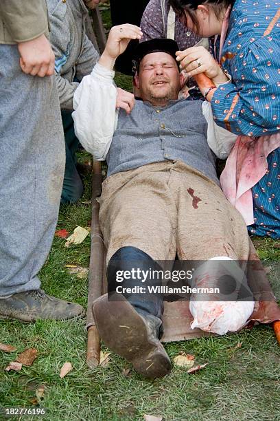
[[202,263],[194,272],[192,287],[198,288],[189,303],[194,316],[192,329],[198,327],[220,335],[236,332],[253,313],[254,301],[246,275],[230,257],[213,257]]

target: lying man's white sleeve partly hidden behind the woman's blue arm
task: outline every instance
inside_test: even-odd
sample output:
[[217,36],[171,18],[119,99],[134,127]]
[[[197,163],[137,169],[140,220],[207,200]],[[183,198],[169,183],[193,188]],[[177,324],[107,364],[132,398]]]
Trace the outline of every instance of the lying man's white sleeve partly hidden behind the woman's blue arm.
[[[226,76],[229,78],[229,81],[225,83],[215,83],[216,87],[219,87],[220,85],[226,85],[226,83],[231,83],[231,76],[228,74]],[[202,102],[202,114],[205,116],[205,119],[208,123],[207,142],[209,148],[213,151],[213,153],[215,153],[216,156],[218,156],[218,158],[225,160],[229,156],[229,153],[235,144],[237,135],[235,135],[235,133],[231,133],[231,131],[227,131],[215,123],[213,119],[211,102]]]

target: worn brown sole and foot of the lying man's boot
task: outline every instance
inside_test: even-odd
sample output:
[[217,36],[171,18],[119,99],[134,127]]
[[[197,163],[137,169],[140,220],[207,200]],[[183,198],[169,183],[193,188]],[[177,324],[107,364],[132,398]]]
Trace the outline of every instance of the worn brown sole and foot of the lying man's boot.
[[170,358],[158,334],[161,319],[141,316],[130,303],[117,294],[108,301],[103,295],[93,303],[93,316],[104,344],[126,358],[144,377],[163,377],[170,373]]

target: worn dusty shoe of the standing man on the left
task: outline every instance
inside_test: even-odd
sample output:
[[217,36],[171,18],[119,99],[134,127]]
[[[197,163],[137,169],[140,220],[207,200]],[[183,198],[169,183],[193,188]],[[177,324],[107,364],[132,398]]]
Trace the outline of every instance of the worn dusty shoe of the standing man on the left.
[[32,322],[37,319],[73,319],[73,317],[83,317],[84,314],[82,305],[56,299],[43,290],[19,292],[5,298],[0,297],[0,319]]

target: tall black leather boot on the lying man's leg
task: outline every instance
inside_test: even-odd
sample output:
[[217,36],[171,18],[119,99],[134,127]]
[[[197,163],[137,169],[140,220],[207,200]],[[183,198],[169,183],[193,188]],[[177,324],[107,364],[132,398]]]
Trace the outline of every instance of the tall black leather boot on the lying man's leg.
[[[145,252],[135,247],[117,250],[110,259],[107,270],[108,295],[93,303],[93,316],[105,345],[126,358],[133,367],[147,378],[163,377],[171,369],[170,358],[159,341],[162,334],[161,294],[119,294],[115,292],[117,271],[160,270],[159,265]],[[146,279],[145,288],[159,285],[161,280]],[[139,279],[124,279],[122,288],[141,284]],[[143,285],[143,283],[142,283]]]

